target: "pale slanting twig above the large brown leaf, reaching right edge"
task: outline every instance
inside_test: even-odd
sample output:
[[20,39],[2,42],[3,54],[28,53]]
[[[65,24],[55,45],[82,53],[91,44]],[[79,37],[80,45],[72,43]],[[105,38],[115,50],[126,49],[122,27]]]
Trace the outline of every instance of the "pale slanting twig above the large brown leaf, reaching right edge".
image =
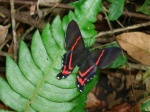
[[[128,26],[128,27],[125,27],[125,28],[115,29],[115,30],[113,30],[113,33],[123,32],[123,31],[131,30],[131,29],[136,29],[136,28],[140,28],[140,27],[145,27],[145,26],[150,26],[150,22],[136,24],[136,25],[131,25],[131,26]],[[100,37],[100,36],[104,36],[104,35],[110,35],[110,34],[112,34],[112,31],[100,32],[100,33],[98,33],[95,36],[95,38]]]

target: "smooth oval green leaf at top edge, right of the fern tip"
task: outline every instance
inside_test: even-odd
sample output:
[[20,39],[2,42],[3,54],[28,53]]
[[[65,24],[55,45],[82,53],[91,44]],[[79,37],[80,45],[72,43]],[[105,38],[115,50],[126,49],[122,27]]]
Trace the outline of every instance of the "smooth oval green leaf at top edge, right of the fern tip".
[[108,10],[108,19],[110,21],[117,20],[121,16],[123,8],[124,0],[114,0]]

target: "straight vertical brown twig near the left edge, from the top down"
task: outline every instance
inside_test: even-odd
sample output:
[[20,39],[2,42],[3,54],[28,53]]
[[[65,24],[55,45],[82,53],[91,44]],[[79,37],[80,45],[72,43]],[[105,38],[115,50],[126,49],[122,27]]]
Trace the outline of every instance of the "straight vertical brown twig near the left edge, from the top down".
[[14,0],[10,0],[10,7],[11,7],[11,20],[12,20],[13,42],[14,42],[14,61],[17,62],[18,42],[17,42],[17,38],[16,38],[16,29],[15,29]]

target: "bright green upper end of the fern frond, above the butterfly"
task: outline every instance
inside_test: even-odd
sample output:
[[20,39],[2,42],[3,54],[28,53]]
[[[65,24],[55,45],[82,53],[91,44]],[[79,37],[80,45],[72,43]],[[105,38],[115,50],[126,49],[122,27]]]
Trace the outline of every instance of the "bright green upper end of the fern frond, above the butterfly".
[[78,23],[87,47],[91,47],[95,42],[94,36],[97,32],[93,23],[96,22],[96,15],[101,9],[100,3],[101,0],[80,0],[74,2],[71,5],[75,7],[75,15],[70,11],[68,16],[63,18],[64,29],[66,29],[68,22],[72,19]]

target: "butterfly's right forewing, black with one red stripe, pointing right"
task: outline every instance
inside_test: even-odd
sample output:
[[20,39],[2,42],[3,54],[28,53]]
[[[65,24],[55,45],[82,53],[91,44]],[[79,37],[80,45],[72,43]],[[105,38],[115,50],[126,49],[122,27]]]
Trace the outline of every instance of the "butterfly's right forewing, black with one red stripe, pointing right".
[[122,49],[119,47],[110,47],[105,49],[95,49],[91,52],[91,57],[94,63],[101,69],[109,66],[113,61],[115,61],[120,54]]

